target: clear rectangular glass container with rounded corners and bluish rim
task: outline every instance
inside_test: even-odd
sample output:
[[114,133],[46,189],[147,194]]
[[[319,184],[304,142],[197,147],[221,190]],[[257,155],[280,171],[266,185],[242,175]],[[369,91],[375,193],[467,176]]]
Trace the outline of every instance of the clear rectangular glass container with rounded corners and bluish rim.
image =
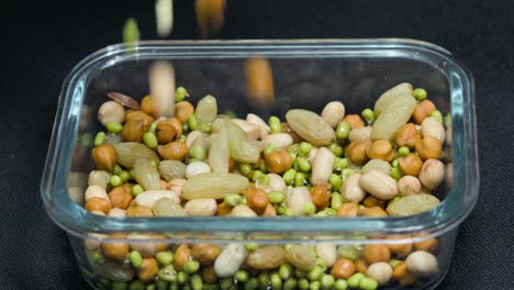
[[[244,63],[253,55],[264,56],[271,63],[276,94],[273,107],[256,109],[246,99]],[[232,112],[239,118],[254,112],[265,120],[272,114],[283,120],[288,110],[297,108],[320,113],[324,104],[333,100],[342,101],[346,112],[359,113],[400,82],[425,88],[437,109],[451,116],[450,132],[447,132],[444,146],[445,181],[435,193],[442,200],[440,204],[412,216],[355,219],[149,219],[102,216],[86,211],[83,192],[88,187],[88,174],[94,168],[90,158],[91,138],[102,130],[97,110],[109,100],[105,97],[109,91],[138,100],[146,96],[148,67],[158,59],[174,64],[177,85],[188,88],[189,101],[197,103],[210,93],[217,99],[219,112]],[[317,283],[331,283],[331,277],[323,278],[323,275],[317,280],[302,280],[306,275],[302,270],[293,270],[289,277],[283,272],[286,270],[279,271],[277,267],[256,270],[245,265],[239,266],[249,274],[249,281],[237,279],[244,275],[214,275],[214,266],[209,263],[201,266],[197,275],[200,278],[185,281],[181,278],[186,275],[180,275],[181,265],[176,264],[177,257],[172,266],[159,259],[159,272],[148,279],[142,275],[141,268],[131,264],[128,256],[115,261],[105,255],[110,245],[128,244],[131,249],[150,248],[149,254],[143,254],[143,258],[149,260],[157,256],[158,250],[177,256],[180,244],[191,248],[198,244],[212,244],[223,249],[222,254],[236,247],[244,255],[248,254],[243,246],[245,244],[287,245],[282,248],[311,245],[313,252],[316,252],[315,247],[328,244],[337,248],[338,259],[354,260],[351,265],[357,266],[355,272],[361,271],[375,278],[377,274],[368,271],[371,263],[362,257],[364,248],[369,245],[405,246],[409,253],[433,253],[437,259],[436,270],[431,275],[407,271],[405,277],[390,277],[378,287],[432,289],[448,270],[458,225],[477,201],[478,182],[473,80],[471,74],[442,47],[395,38],[183,41],[142,42],[135,49],[123,45],[109,46],[88,56],[72,69],[59,97],[41,191],[46,211],[69,234],[77,263],[96,289],[199,289],[199,279],[202,279],[204,289],[252,289],[255,281],[260,281],[261,288],[275,289],[278,281],[275,279],[271,283],[273,279],[269,277],[277,278],[277,275],[284,289],[300,289],[305,287],[305,281],[311,288],[319,287]],[[395,238],[391,238],[393,236]],[[232,246],[227,247],[227,244]],[[388,259],[390,265],[406,260],[405,255],[392,253]],[[320,259],[321,256],[317,253],[319,267],[329,274],[332,268],[324,265],[326,260]],[[415,258],[412,258],[411,271],[415,271],[412,268],[414,263],[420,261]],[[423,255],[417,258],[420,263],[426,261]],[[228,268],[233,266],[226,265]],[[383,265],[381,267],[383,271]],[[388,270],[384,272],[387,276]],[[188,275],[193,276],[195,274]],[[336,275],[335,278],[344,280],[338,281],[340,289],[344,283],[359,289],[358,275],[353,278]],[[362,283],[360,287],[366,288],[366,282]]]

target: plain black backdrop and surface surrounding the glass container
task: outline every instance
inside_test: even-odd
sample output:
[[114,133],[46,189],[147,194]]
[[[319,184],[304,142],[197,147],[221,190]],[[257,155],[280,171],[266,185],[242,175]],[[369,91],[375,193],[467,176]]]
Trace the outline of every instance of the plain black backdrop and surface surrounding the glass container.
[[[40,198],[66,75],[121,42],[126,18],[157,38],[154,1],[14,1],[0,10],[0,289],[89,289]],[[198,38],[191,0],[175,0],[171,38]],[[14,7],[12,7],[14,5]],[[476,80],[479,202],[440,289],[514,289],[512,1],[228,1],[216,38],[409,37],[452,52]]]

